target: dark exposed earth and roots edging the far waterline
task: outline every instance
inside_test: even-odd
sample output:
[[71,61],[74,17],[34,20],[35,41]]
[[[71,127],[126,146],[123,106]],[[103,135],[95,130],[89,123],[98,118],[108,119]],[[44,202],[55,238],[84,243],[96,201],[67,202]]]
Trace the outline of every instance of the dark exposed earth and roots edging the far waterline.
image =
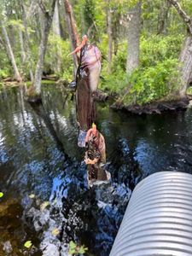
[[[53,86],[61,85],[66,88],[66,90],[71,90],[70,84],[67,81],[58,79],[55,76],[48,76],[44,77],[42,80],[42,85],[44,84],[51,84]],[[12,79],[3,79],[0,81],[0,85],[5,85],[6,87],[19,87],[19,86],[26,86],[26,88],[30,88],[32,85],[31,81],[25,82],[17,82],[13,81]],[[1,90],[1,86],[0,86]],[[68,93],[68,91],[67,91]],[[74,93],[74,92],[73,92]],[[27,97],[26,97],[27,98]],[[35,98],[35,96],[34,96]],[[96,94],[96,101],[97,102],[110,102],[109,107],[113,108],[117,111],[125,111],[127,113],[133,114],[151,114],[151,113],[163,113],[166,111],[177,111],[177,110],[185,110],[191,106],[190,101],[192,100],[192,95],[188,94],[183,98],[176,98],[173,97],[171,99],[161,99],[155,102],[148,102],[143,105],[125,105],[123,102],[118,102],[119,95],[114,96],[104,90],[98,90]],[[29,100],[29,102],[37,102],[33,98]]]

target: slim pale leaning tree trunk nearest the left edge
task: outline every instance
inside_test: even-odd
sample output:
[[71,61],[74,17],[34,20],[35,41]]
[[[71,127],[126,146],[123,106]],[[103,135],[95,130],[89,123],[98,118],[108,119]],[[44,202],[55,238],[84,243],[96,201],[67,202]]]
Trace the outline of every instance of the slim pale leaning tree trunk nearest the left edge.
[[19,70],[18,70],[17,65],[16,65],[15,56],[14,56],[14,53],[13,53],[13,50],[11,48],[11,44],[10,44],[10,41],[9,41],[8,32],[6,30],[6,27],[3,26],[2,21],[0,21],[0,25],[2,26],[3,37],[4,37],[5,44],[6,44],[7,53],[9,55],[9,60],[11,61],[12,67],[14,69],[14,78],[18,82],[21,82],[22,79],[20,77],[20,73],[19,73]]

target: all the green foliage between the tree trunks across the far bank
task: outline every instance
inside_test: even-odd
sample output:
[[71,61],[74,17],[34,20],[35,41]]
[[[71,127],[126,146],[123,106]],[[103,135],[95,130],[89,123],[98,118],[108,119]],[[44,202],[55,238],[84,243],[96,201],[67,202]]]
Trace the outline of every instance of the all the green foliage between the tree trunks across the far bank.
[[[127,32],[128,11],[137,4],[138,0],[72,0],[73,13],[77,21],[79,35],[89,34],[90,43],[97,42],[102,52],[102,78],[100,86],[103,90],[119,98],[125,104],[144,104],[169,96],[172,90],[177,90],[178,63],[177,59],[181,51],[183,39],[186,36],[186,25],[177,14],[174,7],[170,7],[167,1],[144,0],[142,3],[142,33],[140,49],[140,65],[131,76],[126,74],[127,56]],[[26,16],[30,2],[24,1]],[[44,0],[45,8],[49,9],[50,1]],[[190,0],[180,1],[181,7],[188,15],[192,15]],[[49,42],[44,60],[44,73],[52,74],[63,80],[73,79],[73,56],[67,56],[71,52],[70,42],[67,39],[66,23],[61,19],[63,9],[59,4],[61,37],[49,33]],[[111,73],[108,73],[108,10],[112,14],[112,38],[113,61]],[[166,30],[164,34],[158,34],[158,27],[162,11],[168,9]],[[26,39],[23,27],[23,13],[18,1],[2,0],[0,15],[6,26],[11,46],[15,55],[15,61],[23,77],[29,79],[29,68],[32,65],[34,73],[38,60],[38,46],[41,38],[40,20],[38,13],[27,20],[27,32],[29,34],[29,48],[31,59],[22,63],[20,54],[19,31]],[[123,25],[120,25],[122,23]],[[1,30],[0,30],[1,33]],[[3,38],[0,34],[0,38]],[[25,43],[25,42],[24,42]],[[2,47],[3,41],[0,41]],[[24,44],[26,47],[26,44]],[[115,48],[115,49],[114,49]],[[105,57],[105,58],[104,58]],[[61,60],[61,70],[55,68],[58,60]],[[13,68],[6,54],[5,45],[0,51],[0,79],[13,76]],[[33,92],[31,92],[32,94]]]

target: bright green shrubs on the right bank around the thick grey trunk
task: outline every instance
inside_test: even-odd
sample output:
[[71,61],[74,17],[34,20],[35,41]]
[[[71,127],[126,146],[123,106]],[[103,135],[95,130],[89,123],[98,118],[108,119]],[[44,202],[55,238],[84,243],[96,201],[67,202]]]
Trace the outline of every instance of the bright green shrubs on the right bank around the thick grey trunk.
[[102,65],[102,89],[119,96],[118,100],[125,105],[142,105],[170,95],[179,84],[177,56],[182,41],[182,36],[142,37],[140,66],[131,76],[125,73],[126,43],[122,43],[113,57],[110,75],[108,63]]

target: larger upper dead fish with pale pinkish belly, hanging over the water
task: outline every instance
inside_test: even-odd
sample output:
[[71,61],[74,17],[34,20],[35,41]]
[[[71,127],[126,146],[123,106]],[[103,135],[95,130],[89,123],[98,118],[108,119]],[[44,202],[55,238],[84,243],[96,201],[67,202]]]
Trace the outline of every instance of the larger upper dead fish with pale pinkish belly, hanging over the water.
[[81,148],[85,147],[86,132],[96,122],[95,96],[102,70],[102,54],[96,45],[88,44],[87,40],[84,35],[82,43],[71,53],[80,51],[76,74],[76,113],[79,124],[78,145]]

